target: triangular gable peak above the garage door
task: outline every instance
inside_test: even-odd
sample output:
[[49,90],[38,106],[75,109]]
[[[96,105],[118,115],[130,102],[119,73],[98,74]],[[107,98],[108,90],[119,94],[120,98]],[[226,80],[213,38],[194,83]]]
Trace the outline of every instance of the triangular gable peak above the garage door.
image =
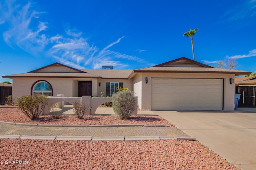
[[206,67],[212,68],[212,66],[208,66],[203,63],[199,63],[197,61],[188,59],[186,57],[180,57],[178,59],[168,61],[166,63],[155,65],[154,67]]

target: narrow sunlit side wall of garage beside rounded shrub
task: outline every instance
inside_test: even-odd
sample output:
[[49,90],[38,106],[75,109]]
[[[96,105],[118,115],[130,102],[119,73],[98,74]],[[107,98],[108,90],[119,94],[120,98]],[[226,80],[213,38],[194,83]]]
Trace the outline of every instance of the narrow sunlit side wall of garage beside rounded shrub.
[[138,107],[142,109],[142,76],[141,73],[138,73],[133,78],[133,91],[134,96],[137,96],[138,98]]

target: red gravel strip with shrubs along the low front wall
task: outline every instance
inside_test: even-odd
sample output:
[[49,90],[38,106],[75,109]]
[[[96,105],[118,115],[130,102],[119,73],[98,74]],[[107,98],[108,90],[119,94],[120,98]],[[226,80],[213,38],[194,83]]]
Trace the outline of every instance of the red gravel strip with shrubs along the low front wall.
[[54,125],[142,124],[173,126],[172,123],[160,116],[131,116],[128,120],[120,120],[117,116],[110,115],[84,115],[83,119],[78,119],[75,115],[62,115],[60,119],[53,119],[52,115],[42,115],[37,120],[31,120],[19,108],[0,108],[0,121]]

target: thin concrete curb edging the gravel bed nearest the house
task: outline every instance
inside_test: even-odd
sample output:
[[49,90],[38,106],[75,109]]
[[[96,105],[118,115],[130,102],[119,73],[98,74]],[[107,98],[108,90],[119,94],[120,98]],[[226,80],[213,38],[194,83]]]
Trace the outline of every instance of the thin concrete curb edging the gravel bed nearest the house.
[[145,127],[170,127],[170,125],[141,125],[141,124],[115,124],[115,125],[47,125],[47,124],[30,124],[30,123],[13,123],[8,121],[0,121],[0,123],[20,126],[43,126],[43,127],[132,127],[132,126],[145,126]]

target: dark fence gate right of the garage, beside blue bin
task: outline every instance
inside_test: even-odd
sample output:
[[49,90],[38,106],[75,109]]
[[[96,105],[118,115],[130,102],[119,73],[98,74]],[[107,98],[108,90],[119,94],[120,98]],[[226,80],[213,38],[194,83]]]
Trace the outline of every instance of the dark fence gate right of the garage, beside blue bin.
[[238,107],[255,107],[256,86],[236,86],[236,93],[241,94]]

